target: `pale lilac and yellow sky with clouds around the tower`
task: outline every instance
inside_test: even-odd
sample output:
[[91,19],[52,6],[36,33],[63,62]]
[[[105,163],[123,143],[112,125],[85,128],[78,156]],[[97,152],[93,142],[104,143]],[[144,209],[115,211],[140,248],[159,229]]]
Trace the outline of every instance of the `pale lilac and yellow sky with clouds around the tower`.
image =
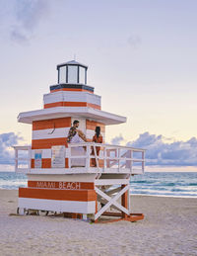
[[42,108],[56,65],[87,64],[106,141],[147,148],[148,165],[197,166],[197,1],[0,0],[0,164],[30,144],[21,112]]

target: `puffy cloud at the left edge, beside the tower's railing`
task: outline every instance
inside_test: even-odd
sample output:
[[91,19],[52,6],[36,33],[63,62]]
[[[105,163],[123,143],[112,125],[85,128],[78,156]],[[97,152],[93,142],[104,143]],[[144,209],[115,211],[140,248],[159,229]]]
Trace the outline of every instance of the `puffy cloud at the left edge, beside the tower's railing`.
[[17,145],[23,137],[14,132],[0,134],[0,164],[14,164],[14,150],[11,146]]

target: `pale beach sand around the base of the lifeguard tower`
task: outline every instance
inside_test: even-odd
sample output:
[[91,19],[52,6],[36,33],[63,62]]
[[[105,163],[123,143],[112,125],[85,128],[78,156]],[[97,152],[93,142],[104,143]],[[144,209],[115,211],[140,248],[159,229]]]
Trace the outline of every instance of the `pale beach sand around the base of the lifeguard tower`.
[[197,199],[132,196],[137,222],[16,213],[17,191],[0,190],[0,255],[197,255]]

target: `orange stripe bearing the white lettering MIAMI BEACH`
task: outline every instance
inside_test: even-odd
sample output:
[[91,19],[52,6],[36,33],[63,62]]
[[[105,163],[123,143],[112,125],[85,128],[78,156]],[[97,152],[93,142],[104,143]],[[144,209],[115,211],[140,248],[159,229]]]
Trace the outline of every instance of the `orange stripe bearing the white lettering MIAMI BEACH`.
[[28,187],[45,189],[94,190],[93,182],[28,181]]

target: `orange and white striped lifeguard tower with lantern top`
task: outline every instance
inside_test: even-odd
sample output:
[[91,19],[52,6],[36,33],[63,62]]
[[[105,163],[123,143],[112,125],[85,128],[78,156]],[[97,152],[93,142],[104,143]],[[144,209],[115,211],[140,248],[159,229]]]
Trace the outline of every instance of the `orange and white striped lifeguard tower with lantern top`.
[[[88,215],[96,222],[102,215],[111,220],[143,219],[142,213],[131,213],[129,190],[131,175],[144,173],[145,150],[91,142],[97,126],[104,140],[105,126],[125,123],[126,118],[101,110],[101,97],[87,85],[87,70],[75,60],[57,65],[58,83],[43,95],[43,109],[18,116],[18,122],[33,129],[32,145],[14,146],[15,170],[28,177],[28,187],[19,188],[19,213],[36,210],[84,219]],[[74,120],[90,142],[67,143]],[[76,148],[84,153],[76,154]]]

